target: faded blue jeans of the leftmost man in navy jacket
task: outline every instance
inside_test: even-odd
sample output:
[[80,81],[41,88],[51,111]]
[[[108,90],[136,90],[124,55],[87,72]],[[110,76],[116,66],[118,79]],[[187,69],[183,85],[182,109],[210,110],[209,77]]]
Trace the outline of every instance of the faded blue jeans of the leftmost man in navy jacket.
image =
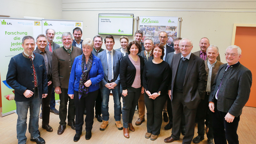
[[29,124],[28,132],[30,133],[30,139],[36,139],[39,137],[38,134],[38,115],[40,111],[40,105],[42,99],[38,97],[38,91],[35,92],[35,98],[31,101],[22,101],[16,103],[16,112],[18,114],[17,119],[17,139],[18,144],[24,144],[27,141],[26,131],[27,131],[27,115],[29,108]]

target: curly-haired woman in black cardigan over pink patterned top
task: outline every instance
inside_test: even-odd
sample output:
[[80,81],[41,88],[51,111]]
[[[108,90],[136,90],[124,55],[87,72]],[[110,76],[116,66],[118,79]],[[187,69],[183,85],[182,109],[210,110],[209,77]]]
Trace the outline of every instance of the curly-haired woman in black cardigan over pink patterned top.
[[135,107],[140,97],[140,93],[144,92],[142,87],[142,72],[144,68],[144,59],[139,56],[141,46],[136,41],[132,41],[127,46],[129,55],[123,57],[120,64],[120,81],[123,88],[123,125],[124,137],[129,138],[129,130],[134,132],[132,126],[132,118],[134,115]]

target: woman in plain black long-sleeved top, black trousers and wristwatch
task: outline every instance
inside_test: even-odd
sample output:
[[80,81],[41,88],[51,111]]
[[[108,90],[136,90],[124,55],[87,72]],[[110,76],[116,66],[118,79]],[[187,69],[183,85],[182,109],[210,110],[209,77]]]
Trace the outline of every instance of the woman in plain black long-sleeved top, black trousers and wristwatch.
[[145,137],[156,140],[162,125],[164,103],[168,98],[167,83],[170,66],[162,60],[164,57],[162,44],[155,44],[150,56],[153,56],[154,59],[148,61],[143,70],[144,100],[147,108],[147,133]]

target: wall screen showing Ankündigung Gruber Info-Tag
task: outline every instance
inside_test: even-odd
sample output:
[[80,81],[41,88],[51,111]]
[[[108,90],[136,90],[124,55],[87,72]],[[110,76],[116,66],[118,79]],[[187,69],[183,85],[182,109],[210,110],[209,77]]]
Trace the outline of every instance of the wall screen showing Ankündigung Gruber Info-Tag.
[[99,35],[132,36],[133,14],[99,14]]

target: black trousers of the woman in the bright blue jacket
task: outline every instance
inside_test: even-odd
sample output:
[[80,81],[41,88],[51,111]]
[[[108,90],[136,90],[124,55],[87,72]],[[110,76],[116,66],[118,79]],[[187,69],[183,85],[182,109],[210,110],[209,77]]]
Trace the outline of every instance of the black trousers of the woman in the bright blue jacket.
[[[78,92],[74,91],[74,100],[76,106],[76,133],[81,134],[83,124],[85,121],[86,132],[92,131],[93,118],[94,118],[94,103],[97,99],[98,90],[89,92],[88,96],[78,99]],[[84,120],[84,108],[86,108],[86,117]]]

